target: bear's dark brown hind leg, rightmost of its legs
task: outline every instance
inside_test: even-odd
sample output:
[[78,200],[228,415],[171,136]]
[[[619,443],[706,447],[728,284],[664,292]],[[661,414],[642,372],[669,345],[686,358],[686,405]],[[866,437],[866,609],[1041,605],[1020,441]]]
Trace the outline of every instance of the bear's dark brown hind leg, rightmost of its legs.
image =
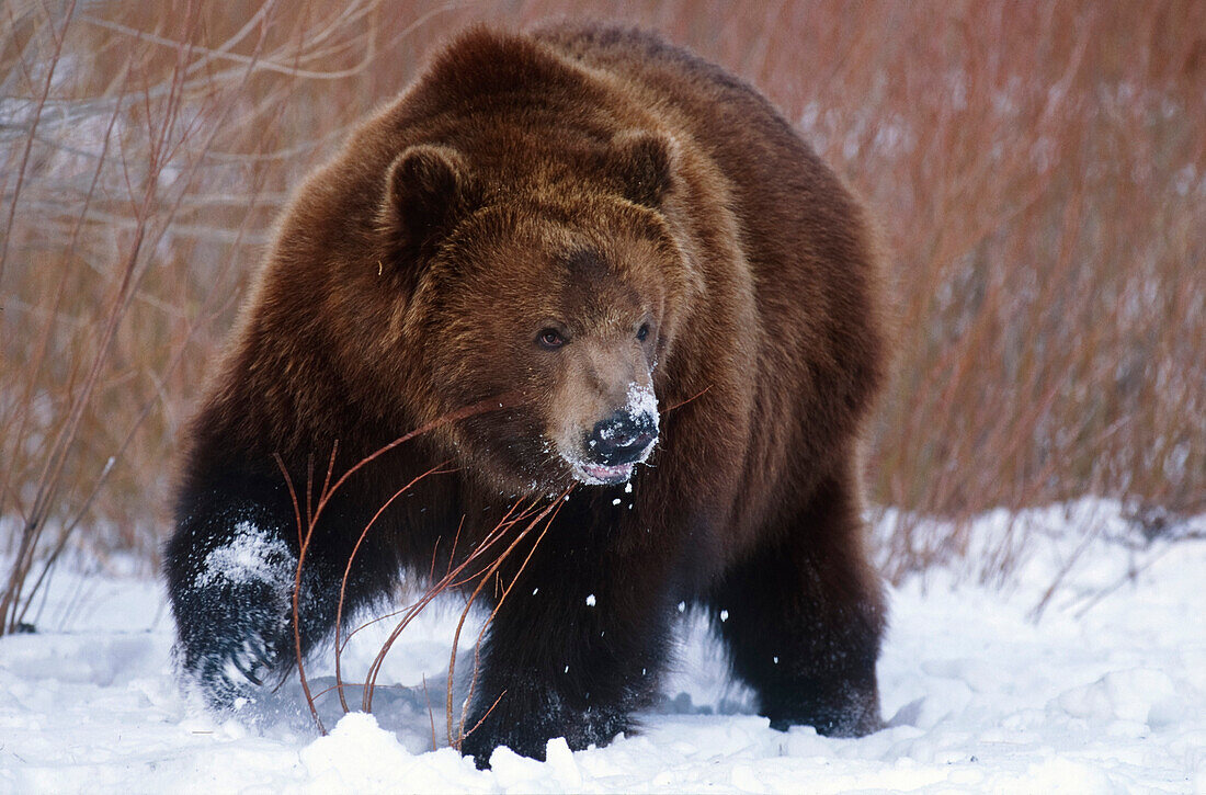
[[709,595],[733,672],[775,729],[877,731],[884,598],[862,546],[849,481],[822,483],[795,521],[726,572]]

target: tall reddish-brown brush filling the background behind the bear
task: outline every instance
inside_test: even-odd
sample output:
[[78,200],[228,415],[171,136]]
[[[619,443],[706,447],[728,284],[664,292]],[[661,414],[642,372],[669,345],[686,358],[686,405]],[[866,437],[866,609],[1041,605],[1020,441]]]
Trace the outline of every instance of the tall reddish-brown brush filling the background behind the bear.
[[[882,218],[872,497],[1206,505],[1206,5],[11,0],[0,592],[152,560],[181,422],[288,192],[452,30],[657,28],[762,88]],[[959,554],[903,520],[890,573]],[[996,562],[1002,565],[1006,562]]]

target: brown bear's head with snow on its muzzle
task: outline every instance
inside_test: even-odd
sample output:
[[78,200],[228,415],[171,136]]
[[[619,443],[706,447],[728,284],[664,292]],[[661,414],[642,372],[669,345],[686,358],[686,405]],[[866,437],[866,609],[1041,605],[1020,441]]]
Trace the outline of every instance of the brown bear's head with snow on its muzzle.
[[[693,279],[663,205],[665,138],[622,135],[579,179],[520,188],[455,148],[390,168],[380,227],[408,270],[405,393],[462,468],[510,493],[627,480],[658,439],[655,372]],[[497,402],[497,408],[493,403]]]

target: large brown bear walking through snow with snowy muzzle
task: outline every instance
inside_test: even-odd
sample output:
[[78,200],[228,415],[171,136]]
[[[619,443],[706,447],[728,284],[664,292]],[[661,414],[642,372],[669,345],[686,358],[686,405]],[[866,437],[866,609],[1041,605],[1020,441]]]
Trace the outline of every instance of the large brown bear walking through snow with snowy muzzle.
[[[192,422],[165,562],[185,671],[217,708],[287,674],[373,514],[446,462],[373,524],[345,619],[578,484],[496,574],[513,596],[482,590],[479,764],[631,731],[681,603],[772,726],[874,730],[857,450],[884,300],[865,210],[742,81],[637,30],[461,35],[300,186]],[[330,457],[449,416],[332,498],[294,627]]]

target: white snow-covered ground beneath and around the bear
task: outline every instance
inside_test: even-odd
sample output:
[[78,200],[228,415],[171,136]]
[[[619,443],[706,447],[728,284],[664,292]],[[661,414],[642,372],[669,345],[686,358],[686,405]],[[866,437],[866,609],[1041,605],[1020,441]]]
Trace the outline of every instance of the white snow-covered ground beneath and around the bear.
[[[207,715],[172,677],[159,585],[64,571],[40,632],[0,638],[0,791],[1206,791],[1206,516],[1141,531],[1090,499],[976,522],[973,548],[1021,550],[1015,577],[982,585],[955,563],[891,592],[891,725],[873,736],[772,731],[687,616],[639,735],[580,753],[555,740],[546,762],[498,750],[491,771],[432,750],[455,604],[394,645],[379,684],[408,686],[379,688],[375,717],[339,719],[323,696],[320,737],[295,680],[239,720]],[[385,629],[357,637],[345,678]]]

